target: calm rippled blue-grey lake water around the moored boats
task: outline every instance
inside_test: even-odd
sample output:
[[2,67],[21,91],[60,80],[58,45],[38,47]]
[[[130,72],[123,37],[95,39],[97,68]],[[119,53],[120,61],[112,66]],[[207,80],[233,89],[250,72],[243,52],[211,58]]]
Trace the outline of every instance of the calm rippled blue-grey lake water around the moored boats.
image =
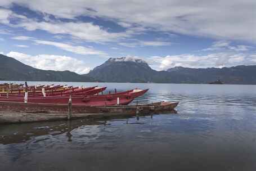
[[61,84],[107,86],[107,91],[150,88],[138,102],[180,104],[177,114],[138,121],[0,125],[0,170],[256,169],[256,86]]

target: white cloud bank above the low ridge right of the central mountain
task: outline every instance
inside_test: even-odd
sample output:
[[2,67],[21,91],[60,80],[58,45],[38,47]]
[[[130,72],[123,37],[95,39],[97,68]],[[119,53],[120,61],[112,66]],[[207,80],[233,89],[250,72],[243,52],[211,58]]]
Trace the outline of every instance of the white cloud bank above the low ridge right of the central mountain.
[[183,66],[187,68],[222,68],[224,66],[236,66],[236,65],[251,65],[256,64],[256,61],[251,63],[249,60],[250,55],[243,53],[210,53],[208,55],[171,55],[166,57],[152,56],[149,58],[151,64],[157,66],[157,70],[166,70],[175,66]]

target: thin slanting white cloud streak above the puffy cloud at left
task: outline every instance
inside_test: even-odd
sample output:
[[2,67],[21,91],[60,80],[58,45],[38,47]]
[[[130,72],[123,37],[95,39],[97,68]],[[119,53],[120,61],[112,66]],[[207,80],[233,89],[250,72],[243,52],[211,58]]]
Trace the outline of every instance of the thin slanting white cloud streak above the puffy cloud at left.
[[59,42],[51,42],[51,41],[45,41],[45,40],[34,40],[37,44],[45,44],[50,46],[58,47],[62,50],[81,54],[81,55],[101,55],[105,56],[106,53],[101,51],[93,50],[92,48],[84,47],[84,46],[72,46],[70,44],[65,43],[59,43]]

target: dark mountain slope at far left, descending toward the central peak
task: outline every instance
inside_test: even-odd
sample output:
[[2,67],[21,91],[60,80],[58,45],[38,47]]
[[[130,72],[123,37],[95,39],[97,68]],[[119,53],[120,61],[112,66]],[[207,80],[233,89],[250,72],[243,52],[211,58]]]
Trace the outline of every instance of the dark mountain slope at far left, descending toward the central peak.
[[93,82],[93,78],[70,71],[41,70],[0,54],[0,80]]

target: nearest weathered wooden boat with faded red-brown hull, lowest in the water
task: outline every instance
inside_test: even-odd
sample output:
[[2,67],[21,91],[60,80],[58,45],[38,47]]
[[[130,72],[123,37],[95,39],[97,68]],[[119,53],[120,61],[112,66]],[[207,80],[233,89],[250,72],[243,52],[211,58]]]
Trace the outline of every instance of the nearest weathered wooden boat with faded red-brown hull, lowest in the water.
[[175,112],[178,102],[155,102],[142,105],[84,106],[57,104],[24,104],[21,102],[0,102],[0,123],[39,122],[111,116],[147,115],[161,112]]

